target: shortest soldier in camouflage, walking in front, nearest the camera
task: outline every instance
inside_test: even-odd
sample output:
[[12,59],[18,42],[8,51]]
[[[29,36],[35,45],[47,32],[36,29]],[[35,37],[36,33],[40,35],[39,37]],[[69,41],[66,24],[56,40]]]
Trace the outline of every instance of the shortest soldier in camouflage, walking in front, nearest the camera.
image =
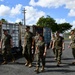
[[40,35],[39,40],[36,44],[36,50],[35,50],[36,60],[37,60],[35,72],[37,72],[37,73],[39,72],[40,59],[42,60],[41,72],[44,71],[46,50],[47,50],[47,46],[44,42],[44,37],[42,35]]

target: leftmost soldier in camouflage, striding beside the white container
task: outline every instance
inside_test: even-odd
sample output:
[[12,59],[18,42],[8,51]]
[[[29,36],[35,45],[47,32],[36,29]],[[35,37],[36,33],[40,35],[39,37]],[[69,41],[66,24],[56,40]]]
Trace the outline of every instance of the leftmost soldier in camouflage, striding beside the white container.
[[2,39],[2,44],[4,45],[4,48],[3,48],[3,60],[4,60],[4,62],[2,64],[7,63],[7,53],[9,53],[12,56],[12,62],[15,62],[15,58],[11,52],[11,48],[13,46],[12,37],[11,37],[11,35],[8,34],[7,30],[3,30],[3,31],[4,31],[5,37]]

